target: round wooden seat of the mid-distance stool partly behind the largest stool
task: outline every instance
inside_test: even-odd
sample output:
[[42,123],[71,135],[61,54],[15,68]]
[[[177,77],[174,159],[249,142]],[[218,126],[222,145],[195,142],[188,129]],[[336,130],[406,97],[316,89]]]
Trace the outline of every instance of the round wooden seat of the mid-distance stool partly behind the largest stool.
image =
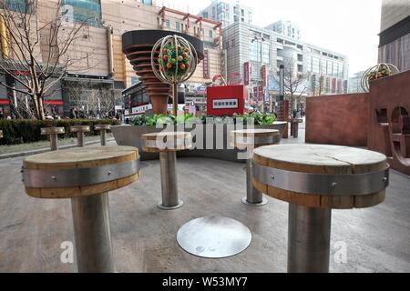
[[240,129],[231,131],[231,146],[244,149],[247,146],[258,147],[279,143],[277,129]]

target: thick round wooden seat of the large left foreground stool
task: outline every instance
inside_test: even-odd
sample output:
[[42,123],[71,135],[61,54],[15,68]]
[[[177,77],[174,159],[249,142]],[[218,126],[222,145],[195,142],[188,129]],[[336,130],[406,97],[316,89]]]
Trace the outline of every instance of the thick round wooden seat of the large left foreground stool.
[[71,198],[105,193],[138,180],[138,148],[93,146],[47,152],[23,162],[26,193]]

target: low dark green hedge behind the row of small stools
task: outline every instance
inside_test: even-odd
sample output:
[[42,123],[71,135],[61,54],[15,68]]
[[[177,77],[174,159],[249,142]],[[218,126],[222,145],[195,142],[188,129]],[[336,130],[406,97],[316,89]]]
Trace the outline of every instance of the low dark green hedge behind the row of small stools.
[[119,125],[115,119],[59,119],[59,120],[33,120],[33,119],[12,119],[0,120],[0,130],[3,130],[3,138],[0,138],[0,145],[14,145],[21,143],[33,143],[48,139],[47,135],[41,135],[42,127],[64,127],[65,134],[58,137],[75,137],[76,133],[70,133],[72,125],[89,125],[90,132],[86,135],[99,135],[94,130],[94,125]]

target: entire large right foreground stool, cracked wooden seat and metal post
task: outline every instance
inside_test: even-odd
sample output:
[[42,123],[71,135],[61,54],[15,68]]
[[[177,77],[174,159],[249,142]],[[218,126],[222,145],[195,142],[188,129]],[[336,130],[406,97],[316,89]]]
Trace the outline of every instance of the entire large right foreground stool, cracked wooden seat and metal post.
[[328,272],[332,209],[384,201],[386,156],[347,146],[262,146],[253,185],[289,202],[288,272]]

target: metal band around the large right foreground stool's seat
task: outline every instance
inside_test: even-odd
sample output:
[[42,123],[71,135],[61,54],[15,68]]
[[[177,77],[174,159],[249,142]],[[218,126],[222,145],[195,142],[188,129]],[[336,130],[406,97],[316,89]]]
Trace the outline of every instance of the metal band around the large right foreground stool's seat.
[[384,190],[389,184],[389,168],[383,171],[326,175],[292,172],[253,163],[253,178],[282,190],[325,196],[361,196]]

